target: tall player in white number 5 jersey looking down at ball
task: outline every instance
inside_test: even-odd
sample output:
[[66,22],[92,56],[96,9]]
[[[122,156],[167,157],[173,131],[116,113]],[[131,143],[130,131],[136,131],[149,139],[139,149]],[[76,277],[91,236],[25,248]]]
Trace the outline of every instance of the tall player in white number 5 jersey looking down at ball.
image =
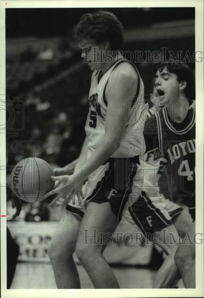
[[[71,193],[72,198],[49,249],[58,288],[80,288],[74,251],[95,288],[119,288],[102,257],[106,244],[103,236],[115,231],[124,207],[139,195],[141,188],[131,187],[133,178],[134,184],[137,179],[141,182],[138,156],[144,150],[148,108],[136,67],[118,52],[122,31],[116,16],[106,11],[83,15],[74,28],[82,58],[93,74],[86,139],[74,173],[52,177],[56,188],[46,194],[69,198]],[[131,191],[135,195],[129,198]],[[92,237],[85,238],[85,230]]]

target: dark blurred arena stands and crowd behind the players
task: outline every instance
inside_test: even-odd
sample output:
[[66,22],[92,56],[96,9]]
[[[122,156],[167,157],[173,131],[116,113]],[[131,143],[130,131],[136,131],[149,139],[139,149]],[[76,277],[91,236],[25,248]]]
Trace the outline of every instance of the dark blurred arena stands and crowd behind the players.
[[[169,8],[170,9],[170,8]],[[46,160],[53,168],[63,167],[76,159],[85,138],[84,125],[88,113],[88,92],[91,71],[82,63],[80,49],[72,41],[71,29],[84,13],[93,9],[63,10],[69,18],[61,16],[61,9],[52,9],[50,26],[43,25],[40,30],[43,13],[39,14],[38,26],[32,18],[38,16],[38,11],[25,10],[19,14],[15,9],[6,14],[6,94],[8,100],[18,97],[22,102],[22,119],[14,117],[12,127],[18,131],[18,137],[7,131],[7,181],[12,167],[26,154],[32,153],[29,141],[44,143],[44,150],[35,153],[36,157]],[[159,51],[166,47],[175,53],[189,51],[194,53],[194,9],[186,8],[154,8],[154,9],[108,9],[115,13],[124,25],[124,46],[122,51]],[[160,11],[159,11],[160,10]],[[164,10],[168,10],[168,16]],[[22,11],[22,9],[21,9]],[[48,13],[48,10],[46,10]],[[14,21],[12,20],[15,15]],[[28,17],[32,17],[29,23]],[[42,18],[42,20],[41,20]],[[180,19],[183,21],[178,21]],[[46,17],[46,20],[49,19]],[[57,20],[66,24],[65,30]],[[56,21],[56,24],[52,24]],[[16,23],[17,22],[17,23]],[[40,24],[39,24],[40,23]],[[12,26],[16,24],[16,31]],[[35,26],[36,25],[36,26]],[[52,31],[52,26],[55,30]],[[63,32],[56,31],[63,28]],[[30,28],[30,29],[29,29]],[[35,30],[34,30],[34,29]],[[47,28],[47,31],[46,31]],[[58,29],[56,29],[58,28]],[[33,30],[33,31],[32,31]],[[50,31],[51,30],[51,31]],[[47,35],[46,35],[47,32]],[[146,34],[145,32],[148,32]],[[39,34],[38,34],[39,33]],[[42,36],[43,35],[43,36]],[[170,36],[170,38],[169,38]],[[128,55],[127,57],[128,58]],[[163,52],[155,59],[164,59]],[[189,65],[194,71],[194,63]],[[145,93],[152,92],[153,62],[137,62],[136,67],[142,77]],[[194,97],[194,94],[192,94]],[[149,100],[149,97],[146,97]],[[195,98],[193,98],[195,99]],[[7,111],[7,119],[10,116]],[[15,109],[14,109],[15,113]],[[19,123],[18,123],[19,121]],[[21,122],[21,123],[20,123]],[[12,149],[15,141],[24,142],[24,152],[16,153]],[[16,210],[12,208],[11,192],[7,191],[7,220],[12,220]],[[29,204],[21,202],[22,208],[15,220],[47,221],[57,220],[47,209],[53,198],[42,202]]]

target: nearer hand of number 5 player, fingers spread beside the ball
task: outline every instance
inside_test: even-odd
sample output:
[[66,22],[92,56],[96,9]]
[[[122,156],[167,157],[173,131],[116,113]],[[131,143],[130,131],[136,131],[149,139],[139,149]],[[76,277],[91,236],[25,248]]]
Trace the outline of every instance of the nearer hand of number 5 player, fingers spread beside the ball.
[[62,198],[66,198],[67,195],[77,186],[78,183],[74,181],[72,175],[63,175],[63,176],[51,176],[51,179],[55,181],[54,189],[49,193],[46,193],[44,198],[57,193],[61,195]]

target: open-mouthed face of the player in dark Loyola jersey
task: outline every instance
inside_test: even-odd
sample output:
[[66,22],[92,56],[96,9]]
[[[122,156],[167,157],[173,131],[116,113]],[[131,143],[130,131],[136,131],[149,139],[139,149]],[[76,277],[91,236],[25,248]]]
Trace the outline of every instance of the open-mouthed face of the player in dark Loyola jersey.
[[155,86],[161,104],[166,101],[175,101],[180,95],[180,83],[177,81],[177,75],[163,69],[158,70],[155,75]]

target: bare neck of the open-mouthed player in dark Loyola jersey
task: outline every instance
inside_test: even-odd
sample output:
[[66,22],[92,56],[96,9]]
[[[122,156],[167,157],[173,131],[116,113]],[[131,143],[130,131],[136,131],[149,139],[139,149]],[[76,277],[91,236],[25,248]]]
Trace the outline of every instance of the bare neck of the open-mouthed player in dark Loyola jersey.
[[174,122],[182,122],[189,110],[189,99],[183,94],[172,103],[168,108],[169,116]]

